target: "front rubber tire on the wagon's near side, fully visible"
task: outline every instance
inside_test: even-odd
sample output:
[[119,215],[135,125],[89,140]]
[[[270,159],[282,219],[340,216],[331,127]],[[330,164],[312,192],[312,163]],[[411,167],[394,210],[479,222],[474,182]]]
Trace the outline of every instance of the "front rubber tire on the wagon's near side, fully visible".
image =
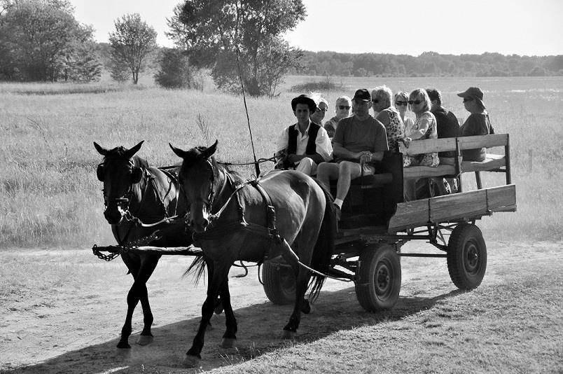
[[[362,249],[356,270],[356,298],[368,312],[391,309],[401,291],[401,261],[389,244]],[[380,282],[377,282],[377,279]]]

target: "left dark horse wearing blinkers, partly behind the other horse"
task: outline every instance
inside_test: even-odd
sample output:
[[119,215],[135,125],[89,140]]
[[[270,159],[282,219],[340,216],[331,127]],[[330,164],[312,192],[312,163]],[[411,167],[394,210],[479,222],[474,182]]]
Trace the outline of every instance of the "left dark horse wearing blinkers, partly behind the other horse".
[[[98,153],[104,156],[97,167],[97,178],[104,183],[104,217],[120,245],[139,242],[158,230],[158,238],[151,245],[188,247],[193,240],[191,233],[184,228],[183,216],[187,212],[187,205],[184,194],[180,193],[181,186],[174,174],[152,167],[144,158],[135,155],[142,144],[143,141],[131,149],[120,146],[108,150],[94,142]],[[173,219],[174,216],[179,219]],[[132,315],[139,300],[144,326],[138,344],[153,342],[153,314],[148,303],[146,282],[160,256],[132,251],[121,253],[134,282],[127,293],[127,314],[118,348],[131,347],[128,340],[132,331]],[[204,256],[196,256],[188,270],[197,270],[201,275],[204,268]],[[209,267],[207,270],[211,272]],[[228,312],[225,310],[225,313]]]

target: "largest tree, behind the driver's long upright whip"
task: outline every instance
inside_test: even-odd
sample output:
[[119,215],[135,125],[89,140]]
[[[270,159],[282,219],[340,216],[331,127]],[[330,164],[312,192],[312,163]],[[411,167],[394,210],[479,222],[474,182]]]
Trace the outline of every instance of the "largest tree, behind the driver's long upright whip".
[[281,34],[304,19],[301,0],[187,0],[174,8],[167,36],[193,64],[211,68],[218,88],[240,92],[239,57],[247,92],[272,97],[303,55]]

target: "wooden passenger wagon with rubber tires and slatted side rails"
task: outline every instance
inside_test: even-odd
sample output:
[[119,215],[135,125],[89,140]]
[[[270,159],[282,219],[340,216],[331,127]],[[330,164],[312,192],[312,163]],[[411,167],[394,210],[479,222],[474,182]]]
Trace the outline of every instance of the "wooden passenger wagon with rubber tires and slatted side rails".
[[[503,147],[503,154],[487,153],[483,162],[461,159],[461,151]],[[457,158],[442,159],[438,167],[406,167],[402,153],[455,151]],[[502,152],[501,152],[502,153]],[[457,180],[475,174],[474,191],[432,193],[444,178]],[[506,184],[483,188],[481,172],[506,174]],[[403,181],[418,180],[430,186],[430,195],[405,202]],[[424,183],[421,183],[424,182]],[[334,187],[334,186],[333,186]],[[515,212],[516,191],[510,181],[508,134],[415,141],[400,153],[385,153],[375,175],[352,181],[342,207],[338,238],[328,275],[354,282],[360,305],[370,312],[389,309],[401,290],[401,257],[446,258],[452,282],[459,289],[475,289],[487,269],[487,247],[475,222],[493,212]],[[411,240],[436,247],[428,253],[405,253]],[[264,291],[276,304],[293,303],[295,284],[283,263],[264,263]]]

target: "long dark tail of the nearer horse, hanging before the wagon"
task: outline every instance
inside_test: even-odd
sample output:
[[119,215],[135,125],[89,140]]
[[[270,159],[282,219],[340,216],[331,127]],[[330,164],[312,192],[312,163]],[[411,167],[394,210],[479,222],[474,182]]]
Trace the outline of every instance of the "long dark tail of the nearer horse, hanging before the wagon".
[[[328,272],[330,270],[331,258],[334,252],[335,240],[336,240],[336,213],[334,208],[334,199],[328,189],[320,183],[317,179],[314,179],[317,185],[321,187],[324,198],[326,201],[326,207],[324,209],[323,221],[321,222],[321,230],[319,230],[319,237],[317,242],[314,244],[313,254],[311,258],[311,268],[319,272]],[[309,282],[309,300],[313,302],[319,297],[321,288],[324,284],[326,277],[321,275],[313,274]]]

